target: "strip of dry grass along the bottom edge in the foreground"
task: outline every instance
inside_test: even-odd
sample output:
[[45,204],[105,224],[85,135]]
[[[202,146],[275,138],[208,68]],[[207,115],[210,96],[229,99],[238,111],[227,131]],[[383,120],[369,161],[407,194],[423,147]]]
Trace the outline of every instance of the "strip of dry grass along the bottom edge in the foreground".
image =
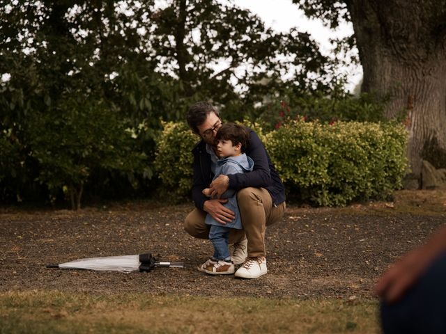
[[0,294],[0,333],[378,333],[377,302],[234,297]]

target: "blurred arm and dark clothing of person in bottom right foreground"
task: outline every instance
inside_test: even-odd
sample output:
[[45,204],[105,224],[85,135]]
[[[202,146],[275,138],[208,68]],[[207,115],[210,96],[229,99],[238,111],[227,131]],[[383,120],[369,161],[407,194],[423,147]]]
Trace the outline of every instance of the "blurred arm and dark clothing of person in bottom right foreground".
[[446,227],[388,269],[375,292],[384,333],[446,333]]

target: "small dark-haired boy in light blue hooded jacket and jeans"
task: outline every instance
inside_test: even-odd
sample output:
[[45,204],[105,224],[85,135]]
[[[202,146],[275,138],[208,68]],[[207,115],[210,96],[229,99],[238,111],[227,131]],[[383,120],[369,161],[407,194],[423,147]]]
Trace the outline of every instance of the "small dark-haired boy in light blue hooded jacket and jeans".
[[[220,159],[217,160],[214,180],[218,175],[245,173],[252,170],[254,161],[244,153],[249,141],[249,134],[245,127],[234,123],[225,123],[218,130],[215,141],[217,143],[217,156]],[[203,194],[210,197],[210,189],[203,189]],[[206,216],[205,222],[210,225],[209,239],[214,246],[214,255],[201,264],[198,269],[212,275],[234,273],[234,264],[231,261],[228,248],[228,236],[231,228],[239,230],[243,228],[237,205],[237,192],[228,189],[222,195],[222,198],[228,199],[224,206],[234,212],[236,218],[231,223],[223,225],[215,221],[210,214]]]

